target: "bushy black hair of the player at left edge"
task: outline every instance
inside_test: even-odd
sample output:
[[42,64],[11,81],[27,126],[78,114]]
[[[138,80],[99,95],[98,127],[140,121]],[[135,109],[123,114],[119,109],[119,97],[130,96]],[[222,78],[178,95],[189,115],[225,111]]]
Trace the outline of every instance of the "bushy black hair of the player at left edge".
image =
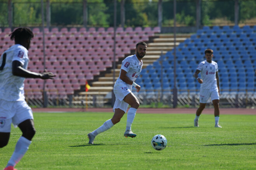
[[9,34],[10,39],[16,43],[24,41],[24,39],[31,39],[34,37],[33,32],[29,27],[19,27]]

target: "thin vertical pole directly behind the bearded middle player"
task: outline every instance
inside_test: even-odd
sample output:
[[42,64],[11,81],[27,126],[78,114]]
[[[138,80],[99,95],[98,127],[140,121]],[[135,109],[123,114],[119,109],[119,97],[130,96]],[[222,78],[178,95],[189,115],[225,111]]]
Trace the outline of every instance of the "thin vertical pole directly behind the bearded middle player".
[[[115,46],[116,46],[116,29],[117,29],[117,0],[114,1],[114,56],[113,56],[113,88],[115,85],[115,67],[116,67],[116,62],[115,62]],[[115,104],[115,94],[114,94],[114,90],[112,90],[112,106],[114,106]]]

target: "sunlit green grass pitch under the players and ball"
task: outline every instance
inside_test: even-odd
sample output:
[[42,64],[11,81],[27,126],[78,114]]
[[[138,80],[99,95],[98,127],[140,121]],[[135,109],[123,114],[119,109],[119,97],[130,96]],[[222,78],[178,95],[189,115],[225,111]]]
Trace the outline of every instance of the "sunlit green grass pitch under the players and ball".
[[[256,169],[256,116],[202,114],[199,128],[194,114],[136,114],[132,131],[125,138],[126,114],[89,145],[87,133],[110,119],[113,113],[34,113],[37,133],[18,170],[251,170]],[[156,134],[167,138],[167,147],[154,150]],[[0,149],[0,169],[5,167],[21,136],[12,128],[10,141]]]

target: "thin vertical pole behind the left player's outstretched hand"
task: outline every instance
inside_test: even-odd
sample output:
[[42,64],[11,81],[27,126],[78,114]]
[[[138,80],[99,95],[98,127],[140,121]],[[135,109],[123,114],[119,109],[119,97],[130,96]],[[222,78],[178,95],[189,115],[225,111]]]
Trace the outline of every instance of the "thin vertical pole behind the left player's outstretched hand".
[[[41,0],[41,12],[42,12],[42,32],[43,32],[43,51],[44,51],[44,70],[45,70],[45,41],[44,41],[44,2]],[[43,85],[43,107],[47,107],[48,99],[45,91],[45,80]]]

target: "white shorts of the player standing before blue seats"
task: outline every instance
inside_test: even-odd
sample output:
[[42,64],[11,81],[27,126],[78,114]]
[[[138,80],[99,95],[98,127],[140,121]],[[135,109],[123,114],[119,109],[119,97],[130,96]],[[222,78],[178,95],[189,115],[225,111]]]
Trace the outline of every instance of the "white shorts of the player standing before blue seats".
[[211,97],[211,100],[219,100],[219,89],[200,89],[200,103],[207,103],[207,100]]

